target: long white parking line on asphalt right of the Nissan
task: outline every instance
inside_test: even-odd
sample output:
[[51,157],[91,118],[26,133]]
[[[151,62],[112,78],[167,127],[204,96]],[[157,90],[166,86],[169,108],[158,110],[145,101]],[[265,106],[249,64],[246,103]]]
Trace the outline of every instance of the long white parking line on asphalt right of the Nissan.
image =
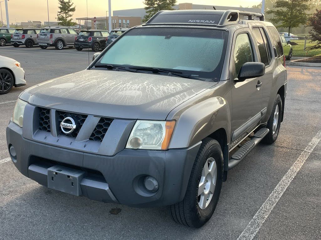
[[261,208],[256,212],[252,220],[249,222],[247,227],[241,233],[237,240],[252,240],[258,230],[262,227],[262,224],[265,222],[271,211],[273,210],[275,204],[280,200],[281,196],[285,190],[289,187],[293,178],[297,175],[305,161],[308,159],[308,156],[317,146],[321,140],[321,131],[310,141],[308,146],[301,153],[297,161],[292,165],[287,173],[283,176],[281,181],[276,185],[273,192],[265,200]]

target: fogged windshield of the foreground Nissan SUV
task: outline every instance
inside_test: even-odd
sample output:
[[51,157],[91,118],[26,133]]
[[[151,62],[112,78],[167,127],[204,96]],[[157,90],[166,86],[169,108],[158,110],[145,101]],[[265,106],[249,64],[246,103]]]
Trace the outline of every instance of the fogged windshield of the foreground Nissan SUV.
[[[219,78],[227,32],[191,28],[135,28],[123,35],[96,64],[181,70]],[[130,46],[130,47],[128,47]]]

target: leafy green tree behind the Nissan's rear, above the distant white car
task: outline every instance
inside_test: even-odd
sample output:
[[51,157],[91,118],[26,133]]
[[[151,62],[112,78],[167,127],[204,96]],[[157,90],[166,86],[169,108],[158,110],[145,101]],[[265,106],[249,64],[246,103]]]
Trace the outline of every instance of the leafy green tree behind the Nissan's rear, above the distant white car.
[[310,9],[310,0],[276,0],[273,9],[268,10],[268,14],[274,14],[271,21],[277,27],[291,28],[306,24],[308,20],[307,11]]

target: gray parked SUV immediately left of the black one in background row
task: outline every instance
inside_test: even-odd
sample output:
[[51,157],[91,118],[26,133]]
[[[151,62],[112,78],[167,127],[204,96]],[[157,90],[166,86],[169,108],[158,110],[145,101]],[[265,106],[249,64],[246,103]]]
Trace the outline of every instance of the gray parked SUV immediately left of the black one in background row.
[[42,49],[53,46],[57,50],[62,50],[65,46],[74,47],[77,35],[76,30],[71,27],[46,27],[37,35],[37,43]]

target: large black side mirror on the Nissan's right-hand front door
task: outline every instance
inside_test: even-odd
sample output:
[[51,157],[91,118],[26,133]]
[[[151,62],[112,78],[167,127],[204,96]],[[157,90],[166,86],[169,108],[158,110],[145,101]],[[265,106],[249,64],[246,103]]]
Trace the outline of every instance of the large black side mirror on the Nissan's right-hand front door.
[[246,62],[242,65],[238,80],[236,82],[242,82],[248,78],[260,77],[265,74],[265,65],[262,62]]

